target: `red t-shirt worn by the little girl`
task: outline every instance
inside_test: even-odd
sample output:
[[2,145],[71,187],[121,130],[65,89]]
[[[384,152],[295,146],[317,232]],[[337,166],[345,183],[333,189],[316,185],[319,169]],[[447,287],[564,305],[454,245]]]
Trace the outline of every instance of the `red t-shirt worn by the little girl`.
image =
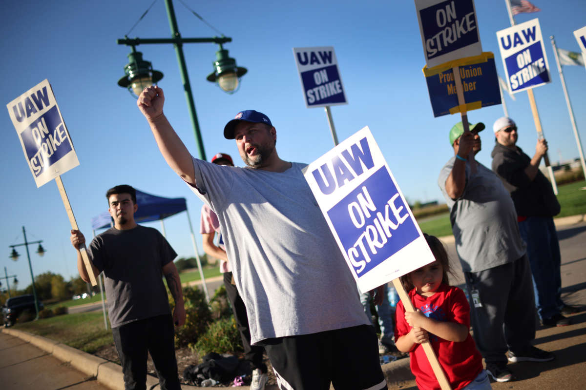
[[[461,323],[470,327],[470,306],[464,291],[458,287],[442,284],[430,297],[419,295],[415,289],[409,292],[409,298],[415,309],[420,309],[427,317],[438,321]],[[405,307],[398,302],[396,311],[395,340],[405,336],[411,326],[405,320]],[[461,342],[448,341],[430,333],[431,346],[438,357],[452,389],[458,390],[468,385],[482,371],[482,356],[476,349],[472,336],[468,333]],[[420,344],[415,344],[410,352],[411,372],[421,390],[440,390],[430,362]]]

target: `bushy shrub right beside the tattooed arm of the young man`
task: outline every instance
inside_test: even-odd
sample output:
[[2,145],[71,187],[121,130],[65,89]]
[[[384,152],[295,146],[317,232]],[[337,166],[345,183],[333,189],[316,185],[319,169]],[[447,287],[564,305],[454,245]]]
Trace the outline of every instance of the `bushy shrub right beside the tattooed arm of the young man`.
[[[199,288],[183,288],[183,302],[185,302],[185,325],[175,329],[175,347],[185,347],[196,343],[212,320],[210,307],[206,296]],[[175,308],[175,301],[169,294],[171,310]]]

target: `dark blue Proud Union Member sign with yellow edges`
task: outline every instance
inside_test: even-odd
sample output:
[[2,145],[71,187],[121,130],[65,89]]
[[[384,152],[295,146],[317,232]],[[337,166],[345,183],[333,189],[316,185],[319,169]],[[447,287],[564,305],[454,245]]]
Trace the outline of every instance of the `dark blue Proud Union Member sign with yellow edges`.
[[[458,104],[452,71],[452,68],[456,66],[464,89],[465,110]],[[495,55],[490,52],[449,61],[433,68],[426,66],[423,68],[423,73],[435,117],[501,103]]]

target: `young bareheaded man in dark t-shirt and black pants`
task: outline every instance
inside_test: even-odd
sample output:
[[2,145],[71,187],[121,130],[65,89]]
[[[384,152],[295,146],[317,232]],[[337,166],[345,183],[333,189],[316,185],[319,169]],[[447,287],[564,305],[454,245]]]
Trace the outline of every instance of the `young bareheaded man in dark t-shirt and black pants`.
[[[104,272],[108,314],[125,389],[146,388],[147,354],[151,353],[161,389],[179,390],[173,323],[185,323],[185,308],[173,264],[177,254],[158,230],[134,221],[138,209],[134,188],[117,185],[108,190],[106,198],[114,227],[94,237],[87,252],[94,275]],[[80,253],[85,242],[79,230],[71,230],[77,270],[87,282],[90,278]],[[175,299],[173,315],[162,275]]]

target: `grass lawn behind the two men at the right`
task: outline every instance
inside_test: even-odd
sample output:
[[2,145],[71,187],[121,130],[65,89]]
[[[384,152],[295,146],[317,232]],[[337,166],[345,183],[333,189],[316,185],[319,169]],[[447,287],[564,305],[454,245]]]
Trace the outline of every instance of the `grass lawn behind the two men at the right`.
[[[586,214],[586,181],[581,180],[570,184],[560,185],[557,200],[561,205],[561,212],[556,218]],[[449,223],[449,213],[443,213],[431,218],[422,218],[417,221],[421,231],[433,236],[443,237],[452,234]]]

